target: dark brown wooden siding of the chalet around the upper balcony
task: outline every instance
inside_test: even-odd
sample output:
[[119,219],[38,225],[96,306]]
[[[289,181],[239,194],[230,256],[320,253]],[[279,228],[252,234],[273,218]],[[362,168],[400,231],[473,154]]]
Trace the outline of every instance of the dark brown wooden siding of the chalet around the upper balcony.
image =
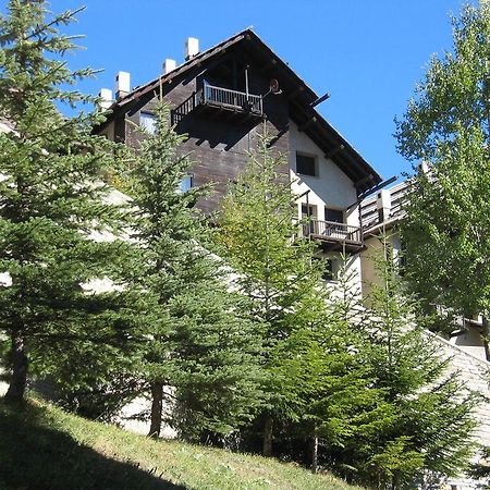
[[[203,70],[200,70],[200,74]],[[206,74],[206,72],[205,72]],[[197,73],[164,87],[164,99],[171,108],[180,106],[197,88]],[[259,70],[249,68],[249,89],[252,94],[266,94],[269,89],[269,78]],[[216,83],[216,82],[215,82]],[[126,144],[137,147],[143,137],[132,123],[138,123],[139,112],[151,112],[156,100],[151,99],[139,105],[131,113],[126,113],[124,139]],[[256,148],[257,135],[266,132],[274,137],[273,148],[286,157],[289,151],[289,103],[284,96],[269,95],[264,100],[265,122],[243,113],[220,111],[210,108],[193,111],[176,125],[180,134],[187,134],[188,139],[179,148],[180,154],[189,152],[194,164],[191,172],[194,185],[213,183],[213,193],[207,199],[201,199],[198,206],[206,212],[217,209],[220,199],[226,192],[229,182],[237,179],[247,162],[247,152]],[[130,122],[131,121],[131,122]],[[289,164],[285,158],[281,173],[289,175]]]

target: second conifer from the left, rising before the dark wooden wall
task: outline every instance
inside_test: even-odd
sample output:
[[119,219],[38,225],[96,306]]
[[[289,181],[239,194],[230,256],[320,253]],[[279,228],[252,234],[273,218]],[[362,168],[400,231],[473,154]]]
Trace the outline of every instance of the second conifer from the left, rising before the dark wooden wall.
[[262,397],[260,336],[256,322],[237,315],[241,298],[228,291],[226,271],[200,245],[209,229],[194,204],[206,188],[180,189],[192,164],[177,154],[185,136],[169,125],[161,100],[156,115],[128,180],[137,244],[130,281],[140,291],[136,321],[147,339],[142,373],[151,392],[149,434],[159,436],[167,402],[183,437],[228,436]]

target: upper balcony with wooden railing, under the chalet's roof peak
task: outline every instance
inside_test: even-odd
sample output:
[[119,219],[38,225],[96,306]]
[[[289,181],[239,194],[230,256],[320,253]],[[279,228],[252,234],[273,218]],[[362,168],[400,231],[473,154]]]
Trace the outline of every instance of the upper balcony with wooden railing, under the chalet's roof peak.
[[172,111],[172,123],[176,124],[191,112],[198,110],[218,110],[229,114],[245,114],[247,118],[264,115],[261,96],[205,85]]

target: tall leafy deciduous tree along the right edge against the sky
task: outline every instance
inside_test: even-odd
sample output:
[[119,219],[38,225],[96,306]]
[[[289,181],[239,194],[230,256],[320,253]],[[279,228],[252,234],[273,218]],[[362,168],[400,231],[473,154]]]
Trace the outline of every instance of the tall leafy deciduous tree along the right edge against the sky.
[[[429,171],[412,181],[403,224],[407,279],[426,310],[489,315],[490,8],[453,20],[454,47],[433,58],[397,121],[400,152]],[[452,322],[436,329],[451,330]]]

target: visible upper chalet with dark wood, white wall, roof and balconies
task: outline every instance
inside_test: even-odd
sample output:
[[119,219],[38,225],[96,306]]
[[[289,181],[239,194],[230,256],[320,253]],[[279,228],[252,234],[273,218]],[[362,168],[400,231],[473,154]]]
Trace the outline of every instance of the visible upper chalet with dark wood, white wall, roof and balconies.
[[283,172],[299,196],[298,218],[310,219],[304,232],[320,240],[327,254],[362,249],[356,201],[381,177],[317,112],[318,95],[253,30],[191,53],[183,64],[171,68],[133,90],[120,88],[108,105],[107,122],[96,132],[137,145],[143,136],[134,123],[151,127],[161,90],[177,133],[188,135],[181,148],[195,161],[187,185],[215,183],[213,195],[198,203],[209,212],[243,171],[247,152],[266,130],[273,148],[289,156]]

